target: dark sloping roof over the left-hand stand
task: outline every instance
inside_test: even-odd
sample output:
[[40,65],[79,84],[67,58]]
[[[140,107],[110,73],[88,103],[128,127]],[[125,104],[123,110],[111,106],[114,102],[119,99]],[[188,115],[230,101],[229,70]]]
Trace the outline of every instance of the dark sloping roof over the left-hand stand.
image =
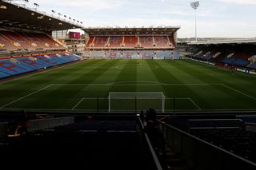
[[67,22],[54,16],[28,9],[11,2],[0,1],[0,24],[2,27],[20,27],[23,29],[53,31],[81,28],[76,23]]

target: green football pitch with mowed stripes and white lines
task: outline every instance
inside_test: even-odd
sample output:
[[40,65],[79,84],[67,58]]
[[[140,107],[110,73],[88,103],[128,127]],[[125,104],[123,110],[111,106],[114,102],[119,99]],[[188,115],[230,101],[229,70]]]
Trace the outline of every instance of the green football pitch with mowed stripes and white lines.
[[[113,99],[109,93],[149,93]],[[163,93],[164,99],[150,98]],[[111,105],[111,110],[110,110]],[[0,109],[256,110],[256,76],[190,60],[85,60],[0,83]]]

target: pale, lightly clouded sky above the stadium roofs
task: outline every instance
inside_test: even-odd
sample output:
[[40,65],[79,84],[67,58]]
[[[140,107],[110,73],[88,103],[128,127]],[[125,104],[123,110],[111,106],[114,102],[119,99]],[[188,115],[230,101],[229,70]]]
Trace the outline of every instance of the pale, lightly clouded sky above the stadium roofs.
[[[22,1],[21,1],[22,2]],[[180,26],[178,38],[194,38],[190,0],[30,0],[85,27]],[[256,38],[256,0],[199,0],[198,38]],[[55,14],[58,16],[58,14]]]

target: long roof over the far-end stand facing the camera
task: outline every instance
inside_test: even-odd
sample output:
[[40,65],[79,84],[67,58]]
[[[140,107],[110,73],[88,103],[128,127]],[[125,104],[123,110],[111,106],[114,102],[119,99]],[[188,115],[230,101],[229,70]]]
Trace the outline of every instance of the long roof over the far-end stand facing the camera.
[[147,28],[86,28],[89,35],[134,35],[134,34],[174,34],[180,27],[147,27]]

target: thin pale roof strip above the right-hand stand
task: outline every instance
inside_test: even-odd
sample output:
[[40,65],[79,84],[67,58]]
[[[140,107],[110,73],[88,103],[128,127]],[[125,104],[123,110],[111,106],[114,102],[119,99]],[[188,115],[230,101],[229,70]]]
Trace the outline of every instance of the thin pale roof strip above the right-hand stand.
[[190,42],[189,45],[254,44],[256,38],[226,39],[218,41]]

